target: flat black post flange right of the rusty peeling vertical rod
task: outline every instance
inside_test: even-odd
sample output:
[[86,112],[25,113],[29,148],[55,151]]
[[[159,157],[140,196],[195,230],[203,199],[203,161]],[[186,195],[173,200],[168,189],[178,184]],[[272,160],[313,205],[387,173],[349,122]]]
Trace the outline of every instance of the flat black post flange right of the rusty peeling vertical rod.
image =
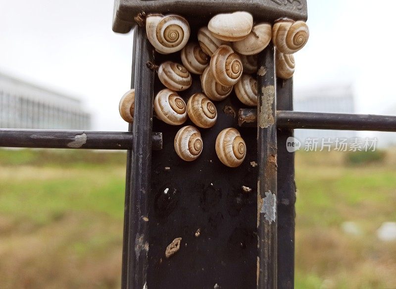
[[[293,111],[293,78],[277,80],[278,110]],[[287,141],[294,129],[279,128],[278,139],[278,287],[294,288],[295,266],[295,153]]]

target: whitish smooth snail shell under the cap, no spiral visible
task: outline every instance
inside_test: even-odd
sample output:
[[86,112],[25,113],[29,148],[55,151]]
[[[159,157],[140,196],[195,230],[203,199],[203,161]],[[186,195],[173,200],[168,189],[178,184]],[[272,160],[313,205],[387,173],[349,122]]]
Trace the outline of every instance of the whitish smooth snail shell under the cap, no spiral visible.
[[249,35],[253,16],[245,11],[217,14],[210,19],[207,28],[218,39],[240,41]]

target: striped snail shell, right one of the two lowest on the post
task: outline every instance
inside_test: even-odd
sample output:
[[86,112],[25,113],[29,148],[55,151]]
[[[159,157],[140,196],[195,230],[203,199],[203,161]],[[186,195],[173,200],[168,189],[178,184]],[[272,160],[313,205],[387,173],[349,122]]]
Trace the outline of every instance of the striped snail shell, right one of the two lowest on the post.
[[216,139],[216,154],[230,168],[239,167],[246,157],[246,143],[235,128],[222,130]]

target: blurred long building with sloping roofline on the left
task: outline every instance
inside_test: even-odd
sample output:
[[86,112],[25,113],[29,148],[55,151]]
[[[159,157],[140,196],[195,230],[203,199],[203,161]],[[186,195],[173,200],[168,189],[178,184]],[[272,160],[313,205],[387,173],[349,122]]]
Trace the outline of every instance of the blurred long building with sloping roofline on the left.
[[0,73],[0,127],[88,130],[91,116],[78,99]]

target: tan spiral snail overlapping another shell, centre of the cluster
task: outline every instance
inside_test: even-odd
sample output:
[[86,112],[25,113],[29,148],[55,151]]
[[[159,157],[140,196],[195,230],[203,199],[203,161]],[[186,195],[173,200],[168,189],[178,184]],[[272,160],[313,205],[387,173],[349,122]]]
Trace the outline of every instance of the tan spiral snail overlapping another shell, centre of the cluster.
[[210,59],[212,75],[223,86],[233,86],[242,76],[241,58],[231,47],[221,45]]

